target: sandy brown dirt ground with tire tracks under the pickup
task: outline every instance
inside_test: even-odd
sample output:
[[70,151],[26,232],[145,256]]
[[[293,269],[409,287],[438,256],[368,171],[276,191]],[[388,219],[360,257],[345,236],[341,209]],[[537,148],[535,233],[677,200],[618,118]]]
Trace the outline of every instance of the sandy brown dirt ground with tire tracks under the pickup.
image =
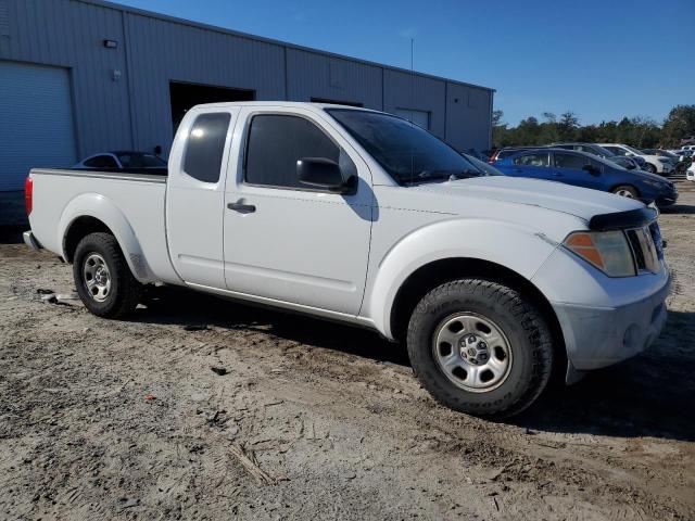
[[102,320],[1,245],[0,519],[693,520],[695,192],[661,226],[658,343],[504,423],[370,332],[174,290]]

